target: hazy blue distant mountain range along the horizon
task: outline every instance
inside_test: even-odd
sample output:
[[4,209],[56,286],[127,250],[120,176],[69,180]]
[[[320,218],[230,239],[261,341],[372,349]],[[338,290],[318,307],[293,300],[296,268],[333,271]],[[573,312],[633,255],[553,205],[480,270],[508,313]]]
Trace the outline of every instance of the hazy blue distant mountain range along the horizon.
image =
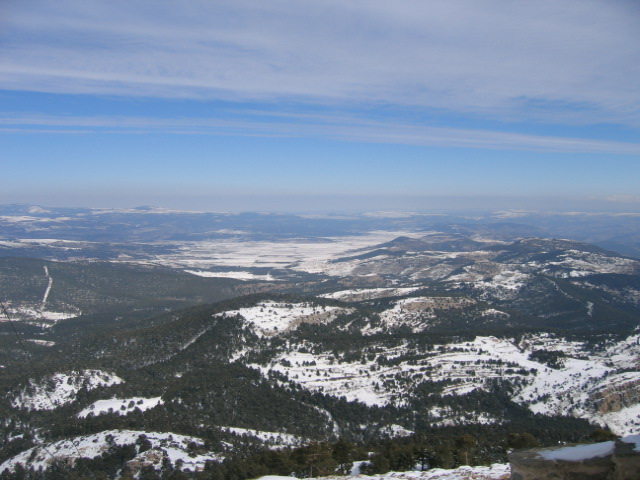
[[[528,237],[567,238],[640,258],[640,213],[633,211],[294,215],[185,212],[158,207],[90,209],[0,205],[0,238],[5,240],[55,238],[121,244],[225,238],[264,241],[341,237],[375,230],[459,233],[504,241]],[[21,250],[29,253],[27,246]]]

